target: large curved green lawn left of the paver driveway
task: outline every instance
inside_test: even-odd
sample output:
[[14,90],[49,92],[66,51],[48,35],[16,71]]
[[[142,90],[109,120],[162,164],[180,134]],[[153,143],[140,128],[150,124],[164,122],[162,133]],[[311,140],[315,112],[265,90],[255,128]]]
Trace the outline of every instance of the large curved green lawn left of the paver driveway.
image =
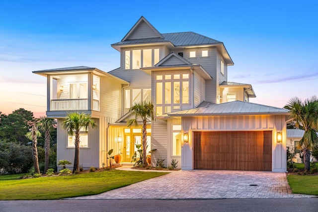
[[110,170],[24,180],[3,180],[2,176],[0,200],[57,200],[95,195],[165,174],[167,173]]

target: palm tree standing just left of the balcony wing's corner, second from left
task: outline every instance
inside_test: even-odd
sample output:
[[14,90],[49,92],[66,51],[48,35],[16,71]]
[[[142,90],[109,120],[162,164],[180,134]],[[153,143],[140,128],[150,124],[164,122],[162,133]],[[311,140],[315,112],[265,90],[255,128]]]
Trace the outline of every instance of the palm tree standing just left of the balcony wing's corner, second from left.
[[44,151],[45,151],[45,165],[44,173],[49,169],[49,159],[50,159],[50,145],[51,136],[50,132],[55,126],[55,120],[53,118],[48,118],[45,116],[40,117],[39,126],[42,131],[44,131]]

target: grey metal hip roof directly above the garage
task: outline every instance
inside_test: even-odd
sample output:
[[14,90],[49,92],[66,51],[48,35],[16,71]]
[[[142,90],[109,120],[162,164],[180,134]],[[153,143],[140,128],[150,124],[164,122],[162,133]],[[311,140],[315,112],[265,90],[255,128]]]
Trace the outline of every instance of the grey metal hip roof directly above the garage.
[[221,103],[206,107],[182,110],[169,113],[169,116],[215,116],[215,115],[266,115],[266,114],[282,114],[288,115],[289,110],[259,105],[255,103],[247,103],[234,101],[229,103]]

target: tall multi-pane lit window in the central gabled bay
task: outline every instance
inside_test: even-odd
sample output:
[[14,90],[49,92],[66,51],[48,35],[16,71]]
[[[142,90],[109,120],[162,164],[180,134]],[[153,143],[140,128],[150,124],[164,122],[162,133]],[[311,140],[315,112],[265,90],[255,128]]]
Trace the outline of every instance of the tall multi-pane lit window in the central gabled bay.
[[189,74],[156,75],[156,113],[162,115],[189,104]]

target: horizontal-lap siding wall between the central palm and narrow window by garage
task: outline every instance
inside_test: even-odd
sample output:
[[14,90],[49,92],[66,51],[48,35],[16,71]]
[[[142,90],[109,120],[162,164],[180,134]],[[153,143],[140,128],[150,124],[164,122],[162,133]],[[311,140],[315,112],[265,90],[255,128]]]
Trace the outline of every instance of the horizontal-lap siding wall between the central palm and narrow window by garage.
[[164,165],[167,166],[167,121],[157,119],[152,122],[151,128],[151,149],[156,149],[151,158],[152,166],[156,166],[159,158],[165,159]]

